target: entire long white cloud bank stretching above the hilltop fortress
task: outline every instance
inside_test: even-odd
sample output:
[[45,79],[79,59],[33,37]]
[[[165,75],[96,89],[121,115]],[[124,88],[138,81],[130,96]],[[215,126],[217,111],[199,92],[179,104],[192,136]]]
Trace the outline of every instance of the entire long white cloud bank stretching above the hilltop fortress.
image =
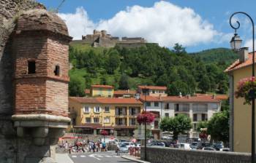
[[222,35],[193,9],[181,8],[167,1],[156,2],[153,7],[127,7],[109,20],[97,23],[92,22],[81,7],[75,14],[59,15],[66,21],[74,39],[80,39],[97,28],[107,30],[112,36],[141,36],[165,47],[172,47],[177,42],[188,47],[214,41],[215,36]]

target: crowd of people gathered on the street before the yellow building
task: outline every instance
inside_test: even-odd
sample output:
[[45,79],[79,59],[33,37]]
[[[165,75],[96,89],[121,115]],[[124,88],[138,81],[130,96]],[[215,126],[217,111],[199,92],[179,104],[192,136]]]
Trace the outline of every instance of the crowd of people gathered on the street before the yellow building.
[[65,151],[72,153],[72,152],[98,152],[98,151],[107,151],[108,146],[105,142],[102,142],[101,140],[98,141],[90,141],[89,139],[78,141],[75,140],[75,143],[68,143],[67,141],[63,144]]

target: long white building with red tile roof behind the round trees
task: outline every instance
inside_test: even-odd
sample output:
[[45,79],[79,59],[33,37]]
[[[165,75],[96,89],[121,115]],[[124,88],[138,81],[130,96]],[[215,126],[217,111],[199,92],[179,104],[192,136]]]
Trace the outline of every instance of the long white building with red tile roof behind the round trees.
[[162,118],[184,114],[192,119],[189,138],[198,138],[197,123],[208,121],[221,109],[221,100],[215,95],[167,96],[162,97]]

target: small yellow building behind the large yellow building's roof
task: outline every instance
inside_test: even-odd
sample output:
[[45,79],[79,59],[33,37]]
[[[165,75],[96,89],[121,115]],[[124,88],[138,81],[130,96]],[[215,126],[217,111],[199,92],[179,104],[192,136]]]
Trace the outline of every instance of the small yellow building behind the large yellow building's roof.
[[91,85],[91,97],[112,98],[114,87],[110,85]]

